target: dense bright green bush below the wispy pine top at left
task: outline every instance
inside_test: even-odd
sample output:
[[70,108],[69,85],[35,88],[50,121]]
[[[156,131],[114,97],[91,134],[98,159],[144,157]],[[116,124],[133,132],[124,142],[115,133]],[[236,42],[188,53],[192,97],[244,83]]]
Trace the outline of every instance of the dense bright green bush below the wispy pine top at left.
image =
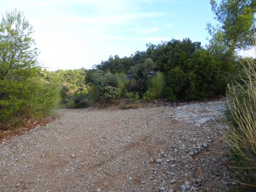
[[[50,115],[59,100],[55,83],[40,77],[26,81],[0,81],[0,122],[21,121],[22,118],[42,118]],[[13,123],[9,124],[9,128]]]

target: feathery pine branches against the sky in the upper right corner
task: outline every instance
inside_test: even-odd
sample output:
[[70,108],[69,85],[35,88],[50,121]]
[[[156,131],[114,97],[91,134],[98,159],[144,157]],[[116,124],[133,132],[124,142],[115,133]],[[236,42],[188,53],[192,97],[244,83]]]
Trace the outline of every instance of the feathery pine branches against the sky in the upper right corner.
[[219,50],[227,50],[229,56],[236,50],[250,49],[255,35],[255,1],[222,0],[218,6],[215,0],[211,0],[211,6],[220,26],[214,28],[208,24],[207,28],[212,36],[210,47],[214,47],[218,42],[218,47],[221,47]]

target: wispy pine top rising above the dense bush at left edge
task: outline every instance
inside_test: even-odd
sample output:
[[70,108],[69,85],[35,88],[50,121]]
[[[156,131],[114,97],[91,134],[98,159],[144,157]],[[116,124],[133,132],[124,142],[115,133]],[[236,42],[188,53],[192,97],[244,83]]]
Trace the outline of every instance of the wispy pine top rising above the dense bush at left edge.
[[38,52],[33,28],[22,13],[6,12],[0,22],[0,79],[26,80],[36,76]]

